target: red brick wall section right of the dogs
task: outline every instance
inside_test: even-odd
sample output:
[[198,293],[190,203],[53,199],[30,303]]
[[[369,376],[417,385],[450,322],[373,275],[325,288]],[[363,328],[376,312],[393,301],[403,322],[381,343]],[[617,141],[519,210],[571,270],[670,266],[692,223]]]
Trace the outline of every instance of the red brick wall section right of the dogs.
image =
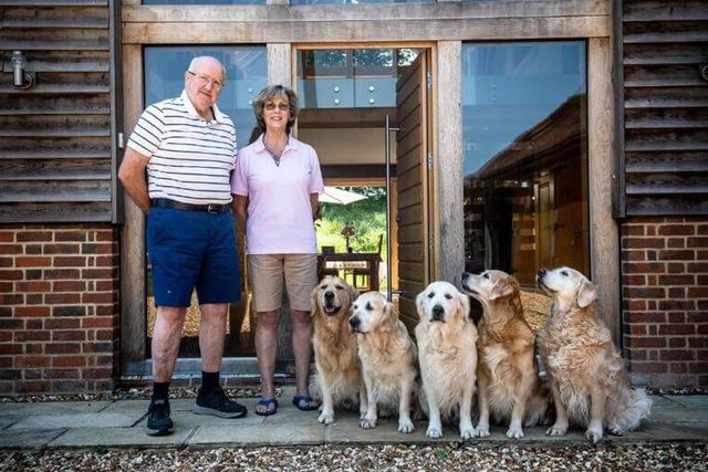
[[708,220],[622,225],[624,350],[635,381],[708,386]]

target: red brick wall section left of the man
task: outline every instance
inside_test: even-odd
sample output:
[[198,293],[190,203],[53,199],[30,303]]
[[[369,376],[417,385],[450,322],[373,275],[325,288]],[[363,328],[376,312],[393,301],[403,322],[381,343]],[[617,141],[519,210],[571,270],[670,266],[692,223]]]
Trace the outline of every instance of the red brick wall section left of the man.
[[113,388],[118,231],[0,225],[0,395]]

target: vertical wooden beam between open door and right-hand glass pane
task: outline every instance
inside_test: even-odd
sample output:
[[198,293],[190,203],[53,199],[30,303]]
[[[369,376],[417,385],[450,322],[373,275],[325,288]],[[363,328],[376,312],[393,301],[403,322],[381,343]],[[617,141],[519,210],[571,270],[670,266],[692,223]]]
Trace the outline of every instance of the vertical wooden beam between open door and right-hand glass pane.
[[462,213],[462,43],[438,41],[437,50],[436,279],[460,285],[465,270]]

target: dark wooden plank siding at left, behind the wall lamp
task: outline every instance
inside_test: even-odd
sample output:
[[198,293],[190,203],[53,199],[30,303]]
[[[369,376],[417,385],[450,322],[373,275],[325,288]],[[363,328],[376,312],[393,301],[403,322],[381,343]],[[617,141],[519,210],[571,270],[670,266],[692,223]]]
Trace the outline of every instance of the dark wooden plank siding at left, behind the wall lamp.
[[[108,0],[0,0],[0,222],[114,218]],[[12,86],[13,50],[37,84]]]

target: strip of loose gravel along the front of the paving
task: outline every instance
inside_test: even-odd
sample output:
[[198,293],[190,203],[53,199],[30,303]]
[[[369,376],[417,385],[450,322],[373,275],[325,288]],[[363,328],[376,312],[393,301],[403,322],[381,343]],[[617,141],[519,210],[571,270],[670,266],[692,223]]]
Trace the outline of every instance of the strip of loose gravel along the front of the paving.
[[705,471],[708,444],[0,451],[6,471]]

